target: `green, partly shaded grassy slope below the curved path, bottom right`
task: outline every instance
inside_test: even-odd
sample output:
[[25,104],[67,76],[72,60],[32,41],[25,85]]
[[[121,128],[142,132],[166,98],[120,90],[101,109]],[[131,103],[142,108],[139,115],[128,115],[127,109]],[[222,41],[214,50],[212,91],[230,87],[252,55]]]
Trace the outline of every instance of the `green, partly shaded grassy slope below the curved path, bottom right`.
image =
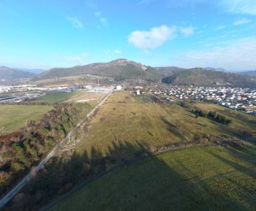
[[164,153],[116,169],[53,210],[252,210],[255,146]]

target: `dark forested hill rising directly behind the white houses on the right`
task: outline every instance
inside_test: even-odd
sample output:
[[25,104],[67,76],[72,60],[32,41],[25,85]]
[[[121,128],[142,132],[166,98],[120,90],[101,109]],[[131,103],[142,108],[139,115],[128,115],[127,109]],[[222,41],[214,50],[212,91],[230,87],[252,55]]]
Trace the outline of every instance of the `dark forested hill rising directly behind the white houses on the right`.
[[164,77],[162,82],[173,85],[256,87],[256,77],[203,68],[177,72],[174,75]]

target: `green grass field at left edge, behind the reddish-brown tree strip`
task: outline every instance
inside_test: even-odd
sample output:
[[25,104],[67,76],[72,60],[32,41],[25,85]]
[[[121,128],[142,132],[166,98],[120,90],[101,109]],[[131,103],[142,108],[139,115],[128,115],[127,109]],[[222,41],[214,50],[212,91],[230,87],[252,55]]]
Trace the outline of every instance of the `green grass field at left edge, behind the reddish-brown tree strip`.
[[14,132],[26,126],[28,120],[38,120],[51,111],[51,105],[0,105],[0,134]]

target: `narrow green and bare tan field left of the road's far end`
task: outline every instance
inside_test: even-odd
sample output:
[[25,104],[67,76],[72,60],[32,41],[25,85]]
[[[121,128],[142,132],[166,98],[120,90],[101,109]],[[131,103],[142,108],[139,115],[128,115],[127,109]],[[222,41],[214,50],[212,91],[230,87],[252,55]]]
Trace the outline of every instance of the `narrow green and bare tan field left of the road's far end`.
[[104,93],[89,93],[86,91],[58,92],[36,98],[33,102],[99,102]]

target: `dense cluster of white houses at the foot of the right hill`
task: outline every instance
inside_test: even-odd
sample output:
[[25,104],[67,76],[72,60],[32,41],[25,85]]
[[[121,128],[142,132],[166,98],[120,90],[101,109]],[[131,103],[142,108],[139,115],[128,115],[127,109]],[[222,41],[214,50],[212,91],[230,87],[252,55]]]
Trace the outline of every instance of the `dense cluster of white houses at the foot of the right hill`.
[[[239,109],[256,116],[256,89],[250,88],[211,88],[211,87],[179,87],[155,88],[148,90],[155,95],[169,95],[179,99],[211,101],[218,105]],[[172,101],[172,98],[166,97]]]

